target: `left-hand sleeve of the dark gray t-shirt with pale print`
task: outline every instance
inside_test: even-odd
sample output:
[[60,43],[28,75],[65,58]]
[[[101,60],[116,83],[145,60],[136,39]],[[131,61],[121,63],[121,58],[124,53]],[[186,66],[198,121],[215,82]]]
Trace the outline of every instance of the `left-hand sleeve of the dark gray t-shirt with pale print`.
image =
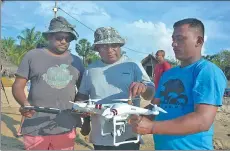
[[31,57],[28,52],[23,57],[21,63],[19,64],[19,67],[15,75],[29,80],[30,79],[30,64],[31,64]]

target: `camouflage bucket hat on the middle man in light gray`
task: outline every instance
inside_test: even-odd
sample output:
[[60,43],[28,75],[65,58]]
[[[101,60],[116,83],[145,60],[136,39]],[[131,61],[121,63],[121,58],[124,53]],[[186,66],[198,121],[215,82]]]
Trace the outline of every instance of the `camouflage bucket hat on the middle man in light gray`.
[[100,27],[94,33],[94,44],[112,44],[117,43],[123,46],[125,44],[125,40],[121,38],[120,34],[112,27]]

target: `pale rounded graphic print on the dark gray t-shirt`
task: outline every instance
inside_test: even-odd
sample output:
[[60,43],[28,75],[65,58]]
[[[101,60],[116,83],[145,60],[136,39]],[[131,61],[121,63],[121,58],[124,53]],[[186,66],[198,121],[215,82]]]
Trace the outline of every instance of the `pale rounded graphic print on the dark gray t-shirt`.
[[43,80],[51,86],[51,88],[62,89],[65,88],[69,82],[73,79],[68,70],[69,65],[61,64],[55,67],[50,67],[47,73],[43,74]]

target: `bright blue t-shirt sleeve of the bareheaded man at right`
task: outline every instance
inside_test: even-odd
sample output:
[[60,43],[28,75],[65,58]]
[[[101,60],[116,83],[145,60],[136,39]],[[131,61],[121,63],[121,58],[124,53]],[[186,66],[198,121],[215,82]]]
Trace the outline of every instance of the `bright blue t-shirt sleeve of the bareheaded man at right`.
[[192,91],[195,104],[221,106],[227,86],[224,73],[215,65],[207,65],[198,70]]

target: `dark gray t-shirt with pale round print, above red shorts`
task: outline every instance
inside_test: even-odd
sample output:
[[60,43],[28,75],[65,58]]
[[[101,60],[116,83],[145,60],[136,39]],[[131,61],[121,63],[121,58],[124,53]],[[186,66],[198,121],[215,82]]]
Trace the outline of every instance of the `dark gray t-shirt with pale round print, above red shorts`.
[[23,58],[17,76],[30,80],[28,101],[31,105],[65,110],[55,115],[36,112],[26,118],[22,133],[33,136],[62,134],[81,126],[79,115],[71,114],[69,101],[74,101],[76,83],[84,72],[77,56],[70,54],[54,56],[47,49],[34,49]]

